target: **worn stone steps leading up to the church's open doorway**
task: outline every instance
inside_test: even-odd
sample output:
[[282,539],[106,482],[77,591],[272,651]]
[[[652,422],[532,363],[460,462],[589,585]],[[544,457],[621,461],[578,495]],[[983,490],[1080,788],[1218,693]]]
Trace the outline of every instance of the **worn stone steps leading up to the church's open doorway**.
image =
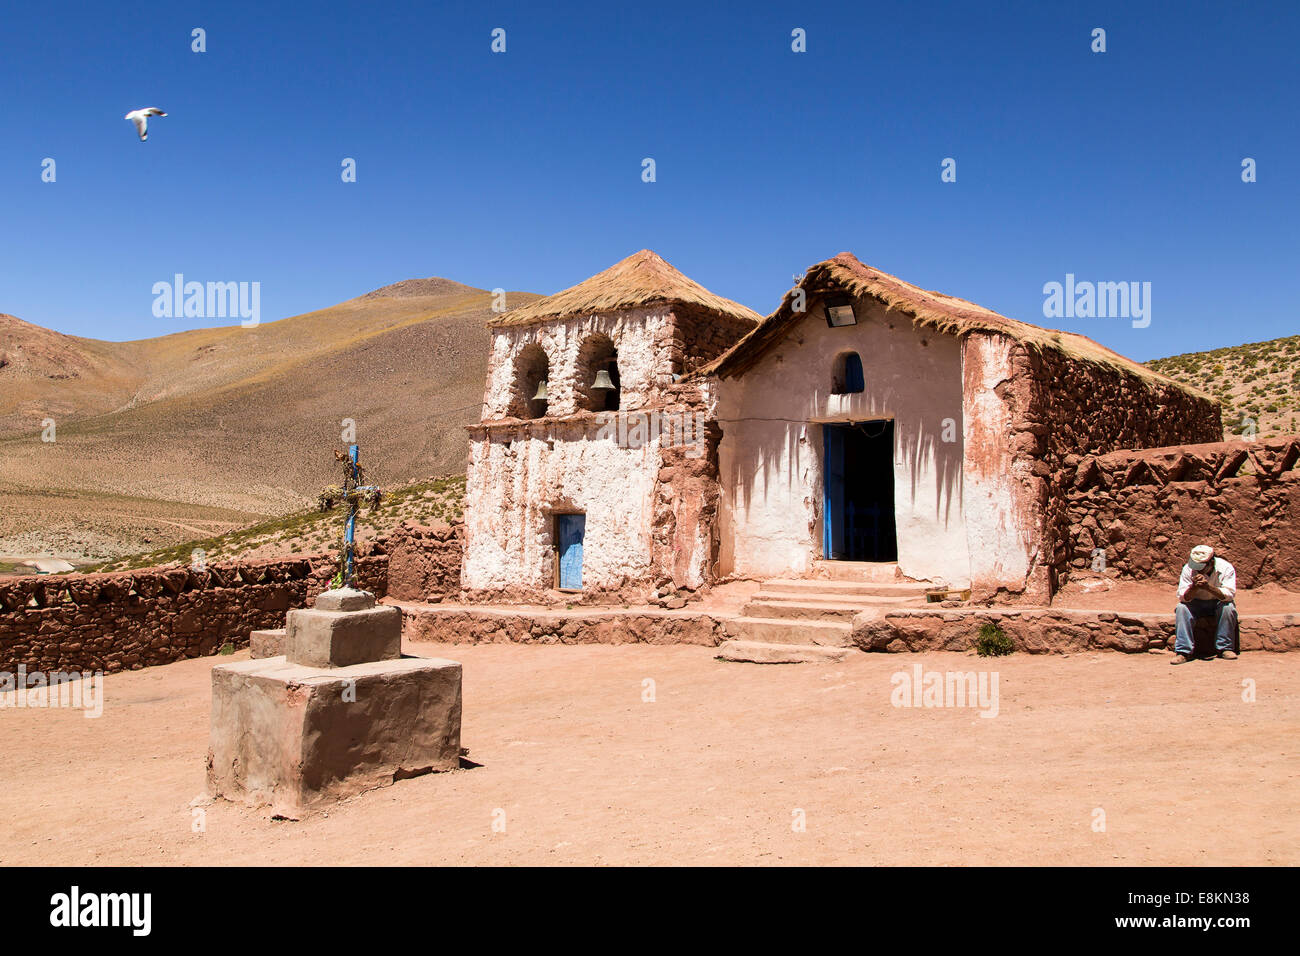
[[862,611],[924,606],[924,581],[900,578],[894,563],[819,561],[809,578],[763,581],[740,618],[727,622],[724,661],[842,661]]

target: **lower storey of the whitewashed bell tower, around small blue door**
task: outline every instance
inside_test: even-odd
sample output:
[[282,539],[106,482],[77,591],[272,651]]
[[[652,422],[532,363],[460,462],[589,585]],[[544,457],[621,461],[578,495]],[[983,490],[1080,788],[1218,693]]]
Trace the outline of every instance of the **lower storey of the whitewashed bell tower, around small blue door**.
[[694,591],[716,558],[718,433],[698,385],[650,410],[468,427],[462,587],[474,601],[555,597],[555,515],[586,515],[582,593]]

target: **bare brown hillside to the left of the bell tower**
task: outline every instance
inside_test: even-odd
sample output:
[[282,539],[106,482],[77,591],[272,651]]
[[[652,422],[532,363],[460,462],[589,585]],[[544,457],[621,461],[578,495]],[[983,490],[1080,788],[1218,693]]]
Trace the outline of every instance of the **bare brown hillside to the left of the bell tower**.
[[339,480],[348,419],[381,485],[462,472],[490,306],[429,278],[136,342],[0,317],[0,559],[103,561],[299,511]]

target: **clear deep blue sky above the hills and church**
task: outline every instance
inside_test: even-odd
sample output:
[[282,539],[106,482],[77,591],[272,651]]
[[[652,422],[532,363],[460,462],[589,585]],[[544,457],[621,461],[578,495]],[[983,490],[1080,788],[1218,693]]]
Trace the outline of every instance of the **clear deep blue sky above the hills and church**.
[[[214,324],[153,317],[177,272],[261,282],[266,321],[420,276],[551,293],[642,247],[763,313],[850,250],[1138,359],[1300,332],[1295,3],[40,3],[0,30],[0,311],[60,332]],[[1048,323],[1067,272],[1149,281],[1150,326]]]

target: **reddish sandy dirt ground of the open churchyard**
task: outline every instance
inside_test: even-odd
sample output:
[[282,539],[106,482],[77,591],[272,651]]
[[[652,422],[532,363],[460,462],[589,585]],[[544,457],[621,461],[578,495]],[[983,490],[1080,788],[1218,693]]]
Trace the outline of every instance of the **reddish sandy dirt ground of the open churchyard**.
[[[1300,862],[1295,654],[408,650],[463,662],[481,766],[303,822],[218,801],[194,831],[208,671],[247,652],[109,675],[98,719],[0,709],[0,864]],[[997,717],[892,706],[890,676],[915,665],[996,671]]]

